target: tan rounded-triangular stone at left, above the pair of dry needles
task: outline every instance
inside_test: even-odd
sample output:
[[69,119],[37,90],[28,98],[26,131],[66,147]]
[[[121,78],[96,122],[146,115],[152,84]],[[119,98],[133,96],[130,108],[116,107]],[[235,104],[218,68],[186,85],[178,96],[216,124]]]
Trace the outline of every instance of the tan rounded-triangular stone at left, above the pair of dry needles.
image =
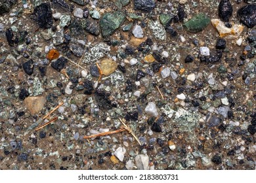
[[37,114],[43,109],[45,105],[46,99],[45,97],[26,97],[24,103],[31,114]]

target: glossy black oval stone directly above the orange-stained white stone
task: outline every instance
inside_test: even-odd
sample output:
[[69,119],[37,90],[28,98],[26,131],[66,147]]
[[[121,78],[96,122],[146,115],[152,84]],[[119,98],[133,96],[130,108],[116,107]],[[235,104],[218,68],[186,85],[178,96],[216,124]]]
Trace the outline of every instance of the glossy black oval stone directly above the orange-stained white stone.
[[233,8],[229,0],[221,0],[219,3],[219,17],[224,22],[228,22],[230,16],[232,16]]

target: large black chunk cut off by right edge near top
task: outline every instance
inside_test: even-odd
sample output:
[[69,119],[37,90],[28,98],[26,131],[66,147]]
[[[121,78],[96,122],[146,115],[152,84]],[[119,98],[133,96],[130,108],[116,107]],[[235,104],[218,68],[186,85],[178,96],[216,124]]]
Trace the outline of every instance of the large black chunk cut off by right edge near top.
[[256,5],[246,5],[238,10],[237,14],[240,22],[248,28],[253,28],[256,24]]

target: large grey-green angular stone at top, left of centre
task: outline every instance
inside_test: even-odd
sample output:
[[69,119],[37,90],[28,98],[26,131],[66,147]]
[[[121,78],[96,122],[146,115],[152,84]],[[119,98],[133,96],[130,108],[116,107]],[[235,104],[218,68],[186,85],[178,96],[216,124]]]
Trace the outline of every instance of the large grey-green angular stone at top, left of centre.
[[125,14],[121,11],[117,11],[114,13],[106,13],[103,15],[100,20],[100,28],[102,31],[102,36],[107,37],[112,35],[114,31],[123,24],[125,20]]

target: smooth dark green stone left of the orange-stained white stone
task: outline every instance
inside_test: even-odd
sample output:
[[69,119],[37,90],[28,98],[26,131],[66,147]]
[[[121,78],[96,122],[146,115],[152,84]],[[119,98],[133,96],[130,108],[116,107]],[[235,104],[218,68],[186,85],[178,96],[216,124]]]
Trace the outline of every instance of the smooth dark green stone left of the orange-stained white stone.
[[188,22],[186,22],[184,27],[186,27],[186,30],[190,33],[197,33],[199,31],[202,31],[207,25],[210,23],[210,19],[200,12],[199,14],[196,14],[193,16]]

